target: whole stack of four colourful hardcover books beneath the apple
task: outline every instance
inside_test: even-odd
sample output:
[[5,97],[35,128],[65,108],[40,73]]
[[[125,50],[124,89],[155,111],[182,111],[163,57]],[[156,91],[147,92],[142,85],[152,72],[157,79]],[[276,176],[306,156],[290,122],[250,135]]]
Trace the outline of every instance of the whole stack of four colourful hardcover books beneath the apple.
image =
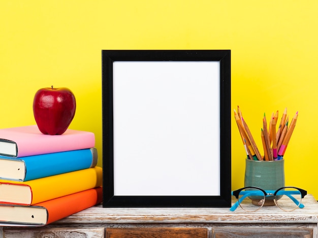
[[43,226],[102,202],[92,132],[0,129],[0,225]]

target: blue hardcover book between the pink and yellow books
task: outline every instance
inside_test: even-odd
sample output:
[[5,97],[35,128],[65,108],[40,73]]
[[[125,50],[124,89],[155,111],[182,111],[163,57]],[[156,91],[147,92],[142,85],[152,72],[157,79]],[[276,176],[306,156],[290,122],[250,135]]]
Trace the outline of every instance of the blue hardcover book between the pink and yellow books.
[[97,165],[96,148],[11,158],[0,156],[0,179],[29,181]]

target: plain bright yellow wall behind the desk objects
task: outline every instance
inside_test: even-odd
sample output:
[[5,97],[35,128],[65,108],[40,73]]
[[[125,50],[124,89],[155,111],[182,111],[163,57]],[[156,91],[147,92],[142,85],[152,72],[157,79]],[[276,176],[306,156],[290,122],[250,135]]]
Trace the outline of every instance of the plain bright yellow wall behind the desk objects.
[[[318,2],[0,2],[0,128],[35,124],[42,87],[77,99],[72,129],[93,131],[102,154],[102,49],[231,49],[232,109],[239,105],[261,147],[262,117],[285,107],[298,122],[285,153],[286,185],[318,199],[316,101]],[[232,188],[243,186],[245,152],[232,119]],[[100,159],[99,165],[102,164]]]

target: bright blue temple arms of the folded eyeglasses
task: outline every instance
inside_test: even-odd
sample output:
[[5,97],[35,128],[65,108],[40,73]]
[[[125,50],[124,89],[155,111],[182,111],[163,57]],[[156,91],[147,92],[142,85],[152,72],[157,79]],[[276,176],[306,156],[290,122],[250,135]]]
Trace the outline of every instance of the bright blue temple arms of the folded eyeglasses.
[[[273,194],[275,191],[274,191],[274,190],[267,190],[266,192]],[[241,191],[240,193],[243,194],[243,196],[241,196],[241,198],[239,198],[239,199],[233,204],[233,206],[230,208],[230,211],[231,211],[231,212],[234,212],[234,211],[237,209],[237,207],[239,206],[239,203],[240,203],[243,199],[245,199],[247,196],[252,196],[252,195],[253,195],[253,196],[257,196],[257,195],[263,196],[263,195],[264,195],[264,193],[261,192],[261,191]],[[305,206],[303,205],[303,203],[299,202],[295,197],[292,196],[292,195],[295,195],[295,194],[298,194],[298,192],[297,192],[297,191],[280,191],[280,192],[278,192],[276,195],[287,195],[289,198],[292,199],[292,201],[295,202],[295,204],[296,204],[297,206],[299,206],[299,208],[304,208]],[[232,195],[233,195],[233,191],[232,191]],[[267,195],[271,195],[271,194],[267,194]]]

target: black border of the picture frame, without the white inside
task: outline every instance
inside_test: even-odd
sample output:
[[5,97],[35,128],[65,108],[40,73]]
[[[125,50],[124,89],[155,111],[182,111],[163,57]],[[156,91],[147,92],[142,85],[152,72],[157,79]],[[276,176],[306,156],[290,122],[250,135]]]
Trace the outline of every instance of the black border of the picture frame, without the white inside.
[[[220,62],[220,196],[114,196],[113,62]],[[231,207],[231,50],[102,50],[103,207]]]

